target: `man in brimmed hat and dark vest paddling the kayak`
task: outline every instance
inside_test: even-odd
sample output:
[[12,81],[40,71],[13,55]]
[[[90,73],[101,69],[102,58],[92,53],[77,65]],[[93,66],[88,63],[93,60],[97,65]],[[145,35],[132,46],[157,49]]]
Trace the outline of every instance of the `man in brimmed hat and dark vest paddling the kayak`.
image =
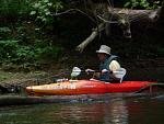
[[[101,80],[101,81],[119,81],[114,76],[114,71],[118,70],[120,68],[120,64],[118,63],[118,57],[110,54],[110,47],[106,45],[101,45],[99,49],[96,50],[97,57],[101,61],[99,64],[99,71],[101,72],[94,72],[94,78]],[[86,69],[87,74],[94,71],[93,69]]]

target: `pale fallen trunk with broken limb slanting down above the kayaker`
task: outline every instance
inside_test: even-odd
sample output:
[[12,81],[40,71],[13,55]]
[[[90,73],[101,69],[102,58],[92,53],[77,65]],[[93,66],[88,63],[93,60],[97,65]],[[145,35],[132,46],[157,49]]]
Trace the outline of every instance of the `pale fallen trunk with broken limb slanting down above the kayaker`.
[[102,23],[99,23],[97,29],[93,30],[91,35],[77,46],[77,50],[82,53],[86,45],[94,41],[98,33],[106,29],[105,25],[117,23],[122,30],[124,36],[127,38],[131,38],[131,22],[147,22],[147,24],[155,23],[159,19],[163,18],[163,7],[156,10],[113,9],[113,11],[108,11],[108,14],[106,14],[106,16],[96,15],[96,19],[98,19],[104,24],[102,25]]

